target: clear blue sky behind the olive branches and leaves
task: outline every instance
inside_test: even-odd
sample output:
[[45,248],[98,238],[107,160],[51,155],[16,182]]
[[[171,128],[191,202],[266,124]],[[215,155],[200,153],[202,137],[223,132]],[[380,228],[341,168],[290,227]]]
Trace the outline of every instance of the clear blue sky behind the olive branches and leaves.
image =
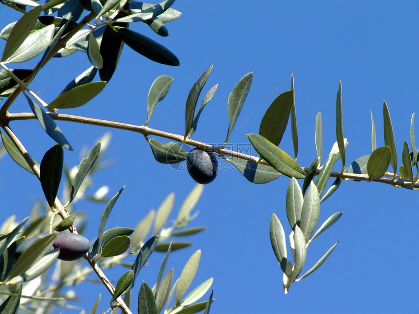
[[[245,134],[258,132],[266,109],[289,89],[294,73],[298,162],[309,166],[316,156],[317,112],[323,116],[324,155],[336,141],[336,92],[342,80],[343,132],[349,142],[346,164],[371,153],[370,110],[376,123],[377,146],[384,145],[383,99],[391,113],[401,164],[402,144],[404,140],[410,143],[410,119],[419,99],[417,1],[179,0],[173,7],[183,14],[167,24],[169,37],[154,35],[142,23],[132,24],[131,29],[171,49],[180,60],[179,67],[155,64],[125,47],[105,90],[81,108],[60,112],[142,125],[148,89],[158,75],[168,74],[174,78],[171,91],[159,104],[161,110],[154,111],[149,126],[183,134],[188,92],[213,64],[204,92],[216,83],[219,87],[192,138],[223,143],[229,92],[243,75],[253,71],[251,90],[230,138],[230,143],[247,144]],[[10,11],[1,8],[2,26],[17,19],[18,15],[10,15]],[[4,42],[1,45],[4,47]],[[50,102],[89,66],[83,53],[54,59],[31,88]],[[26,100],[20,96],[11,111],[29,111]],[[418,122],[416,125],[419,129]],[[80,149],[91,147],[106,131],[66,122],[59,126],[75,148],[75,152],[65,151],[65,161],[71,166],[78,164]],[[11,127],[38,161],[54,145],[35,121],[14,122]],[[176,200],[171,219],[175,219],[195,185],[187,171],[158,164],[140,134],[112,130],[112,135],[109,156],[115,162],[98,174],[92,188],[108,185],[113,196],[126,185],[107,227],[135,227],[172,191]],[[293,155],[289,128],[280,147]],[[339,160],[335,170],[341,166]],[[8,156],[1,159],[0,174],[0,220],[11,213],[21,220],[42,197],[41,187]],[[289,234],[285,212],[288,182],[282,176],[266,185],[253,185],[236,169],[220,170],[216,180],[205,186],[195,208],[199,216],[190,223],[205,225],[208,230],[191,237],[192,247],[171,254],[168,267],[174,267],[175,278],[190,255],[201,249],[192,286],[214,277],[216,301],[211,313],[418,313],[418,192],[378,183],[343,182],[322,203],[320,221],[337,211],[342,211],[343,217],[310,245],[305,270],[340,240],[337,248],[319,270],[293,284],[285,296],[282,272],[269,241],[269,219],[276,213]],[[88,213],[85,236],[93,239],[104,205],[79,202],[77,208]],[[152,254],[151,266],[141,271],[140,279],[152,286],[163,258],[161,253]],[[123,272],[111,272],[111,277],[117,279]],[[109,306],[103,286],[92,291],[90,284],[83,284],[80,289],[86,310],[98,293],[102,294],[99,310]]]

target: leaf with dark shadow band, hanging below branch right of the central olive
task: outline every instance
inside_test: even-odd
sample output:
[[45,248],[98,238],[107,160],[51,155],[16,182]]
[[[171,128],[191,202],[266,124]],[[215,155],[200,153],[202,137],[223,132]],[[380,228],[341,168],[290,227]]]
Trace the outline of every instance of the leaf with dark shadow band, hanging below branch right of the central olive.
[[278,179],[281,173],[271,166],[254,163],[252,161],[231,157],[228,159],[237,170],[239,170],[248,181],[256,184],[263,184]]

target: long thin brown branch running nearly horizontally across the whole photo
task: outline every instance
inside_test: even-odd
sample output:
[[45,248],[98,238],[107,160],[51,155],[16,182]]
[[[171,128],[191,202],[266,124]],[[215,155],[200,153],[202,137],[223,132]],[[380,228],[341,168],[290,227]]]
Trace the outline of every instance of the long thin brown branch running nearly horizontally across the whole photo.
[[[173,140],[173,141],[176,141],[176,142],[179,142],[179,143],[185,143],[185,144],[188,144],[190,146],[195,146],[195,147],[207,149],[207,150],[210,150],[210,151],[214,151],[215,153],[217,153],[221,156],[236,157],[236,158],[240,158],[240,159],[243,159],[243,160],[252,161],[254,163],[259,163],[259,164],[270,166],[265,160],[263,160],[263,159],[261,160],[261,158],[257,157],[257,156],[243,154],[243,153],[240,153],[240,152],[237,152],[237,151],[234,151],[234,150],[230,150],[230,149],[226,149],[226,148],[211,146],[209,144],[202,143],[202,142],[199,142],[199,141],[194,141],[194,140],[191,140],[189,138],[187,138],[184,141],[184,136],[183,135],[173,134],[173,133],[161,131],[161,130],[158,130],[158,129],[151,129],[147,126],[138,126],[138,125],[115,122],[115,121],[109,121],[109,120],[102,120],[102,119],[76,116],[76,115],[71,115],[71,114],[62,114],[62,113],[54,113],[54,112],[47,112],[47,114],[54,120],[83,123],[83,124],[100,126],[100,127],[107,127],[107,128],[113,128],[113,129],[123,129],[123,130],[128,130],[128,131],[141,133],[145,136],[148,136],[148,135],[159,136],[159,137],[167,138],[169,140]],[[7,113],[7,115],[4,118],[4,120],[7,123],[9,121],[14,121],[14,120],[30,120],[30,119],[35,119],[35,115],[33,113],[30,113],[30,112]],[[303,169],[305,171],[308,171],[308,168],[306,168],[306,167],[303,167]],[[319,173],[320,173],[320,169],[318,169],[315,174],[318,175]],[[387,172],[386,172],[385,175],[394,176],[394,174],[390,174],[390,173],[387,173]],[[333,171],[330,176],[334,177],[334,178],[341,178],[343,180],[361,180],[361,181],[367,181],[367,182],[370,181],[368,175],[358,174],[358,173],[345,173],[345,172],[342,173],[340,171]],[[404,187],[409,187],[409,188],[411,188],[411,187],[419,188],[419,183],[418,182],[412,184],[412,182],[410,182],[410,181],[405,181],[405,180],[395,181],[393,178],[382,177],[378,180],[375,180],[375,182],[385,183],[385,184],[389,184],[389,185],[393,185],[393,186],[404,186]]]

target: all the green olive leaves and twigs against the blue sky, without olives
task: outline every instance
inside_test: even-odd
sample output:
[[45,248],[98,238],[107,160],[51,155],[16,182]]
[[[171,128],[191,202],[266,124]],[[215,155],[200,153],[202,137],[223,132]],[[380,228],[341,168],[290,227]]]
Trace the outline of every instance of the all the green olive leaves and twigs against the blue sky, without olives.
[[[260,156],[224,148],[229,142],[250,90],[252,73],[245,74],[229,94],[228,132],[224,144],[220,147],[190,139],[206,104],[217,90],[217,85],[208,89],[199,109],[196,108],[212,66],[190,89],[185,107],[183,134],[172,134],[147,126],[155,106],[170,90],[173,78],[168,75],[157,77],[150,88],[146,104],[147,120],[144,125],[133,126],[61,113],[64,109],[83,106],[102,92],[105,86],[112,89],[110,80],[125,44],[152,61],[170,66],[179,65],[179,60],[169,49],[129,29],[131,23],[143,22],[142,24],[147,24],[158,35],[167,36],[165,23],[180,17],[180,12],[171,7],[173,2],[174,0],[166,0],[158,4],[149,4],[128,0],[50,0],[40,4],[32,0],[1,1],[3,9],[7,6],[7,9],[21,13],[18,21],[4,25],[0,32],[0,37],[6,40],[0,59],[0,96],[3,97],[0,108],[2,143],[19,166],[39,179],[45,194],[45,201],[36,205],[30,217],[15,222],[15,217],[12,216],[1,225],[1,313],[3,311],[17,313],[18,309],[30,312],[34,308],[37,308],[39,313],[44,313],[54,311],[56,305],[68,306],[66,299],[59,297],[62,287],[69,284],[76,285],[92,272],[97,275],[110,294],[99,295],[90,313],[96,312],[101,297],[109,300],[109,310],[115,312],[121,310],[123,313],[132,313],[132,309],[137,309],[138,313],[162,311],[209,313],[210,311],[212,293],[207,301],[199,300],[209,291],[212,278],[199,284],[185,296],[198,268],[200,250],[192,254],[177,280],[173,280],[173,269],[166,272],[171,251],[192,244],[171,241],[171,237],[187,237],[205,229],[205,227],[187,227],[194,217],[192,210],[203,191],[203,185],[196,185],[193,188],[180,207],[177,219],[170,227],[166,224],[173,207],[173,193],[156,211],[150,211],[138,222],[135,230],[127,227],[106,229],[108,217],[123,192],[123,187],[110,200],[105,197],[106,187],[100,188],[95,195],[87,195],[86,188],[92,183],[95,172],[101,170],[104,164],[106,166],[103,154],[109,143],[109,134],[105,134],[89,152],[84,153],[84,158],[78,167],[71,168],[64,164],[64,148],[67,150],[73,148],[56,121],[64,120],[141,133],[149,143],[153,157],[163,164],[181,163],[188,159],[184,146],[177,144],[180,143],[210,152],[210,160],[214,165],[216,164],[216,159],[213,161],[214,156],[223,158],[232,163],[248,181],[254,184],[266,184],[281,175],[289,177],[286,215],[292,232],[287,239],[283,222],[279,221],[275,213],[272,214],[269,225],[273,258],[276,257],[279,268],[284,274],[285,293],[288,293],[294,282],[300,281],[318,269],[336,248],[338,242],[333,244],[318,262],[309,265],[310,268],[303,272],[309,244],[337,222],[343,214],[337,212],[324,222],[318,221],[321,203],[341,185],[342,181],[376,181],[413,190],[419,188],[414,114],[411,119],[410,143],[407,141],[403,143],[401,163],[399,159],[398,165],[391,117],[385,102],[383,104],[385,146],[377,148],[371,113],[372,152],[359,157],[347,166],[345,148],[348,146],[348,141],[343,134],[340,82],[336,97],[336,143],[327,156],[323,154],[322,115],[319,112],[315,130],[317,156],[310,166],[306,165],[308,167],[297,163],[298,131],[293,76],[290,89],[278,95],[267,109],[260,123],[259,134],[247,134],[251,145]],[[65,60],[65,56],[79,52],[86,53],[92,66],[68,83],[56,99],[48,104],[31,90],[34,77],[51,58]],[[14,67],[14,64],[36,57],[38,63],[33,69]],[[9,112],[19,93],[23,93],[26,97],[31,112]],[[40,163],[31,157],[11,127],[13,121],[27,119],[38,120],[45,132],[57,142],[57,145],[45,152]],[[294,148],[293,157],[279,148],[288,121],[290,121]],[[409,149],[409,144],[412,151]],[[333,166],[337,162],[342,163],[342,170],[335,172]],[[390,165],[392,172],[387,171]],[[216,171],[210,173],[208,182],[212,181],[215,175]],[[331,177],[335,180],[328,186]],[[61,197],[57,196],[59,186],[63,190]],[[92,240],[90,246],[86,248],[83,259],[63,261],[60,253],[68,250],[68,247],[57,244],[57,233],[65,232],[67,229],[72,234],[82,233],[83,213],[78,212],[76,208],[76,202],[80,198],[105,201],[107,204],[99,222],[97,239]],[[149,234],[152,235],[151,238],[148,238]],[[17,252],[19,244],[25,238],[34,237],[39,239],[32,242],[23,252]],[[54,249],[51,249],[51,244],[54,244]],[[156,282],[140,284],[136,280],[138,273],[154,251],[166,252]],[[135,261],[127,262],[126,258],[131,254],[135,255]],[[85,265],[85,260],[88,265]],[[114,286],[103,270],[116,265],[125,265],[130,269],[120,274]],[[48,272],[48,269],[54,269],[54,272]],[[28,282],[26,295],[22,295],[22,282]],[[133,298],[131,292],[135,284],[140,286],[139,293],[136,297],[137,302],[131,302]],[[137,304],[131,305],[131,303]]]

